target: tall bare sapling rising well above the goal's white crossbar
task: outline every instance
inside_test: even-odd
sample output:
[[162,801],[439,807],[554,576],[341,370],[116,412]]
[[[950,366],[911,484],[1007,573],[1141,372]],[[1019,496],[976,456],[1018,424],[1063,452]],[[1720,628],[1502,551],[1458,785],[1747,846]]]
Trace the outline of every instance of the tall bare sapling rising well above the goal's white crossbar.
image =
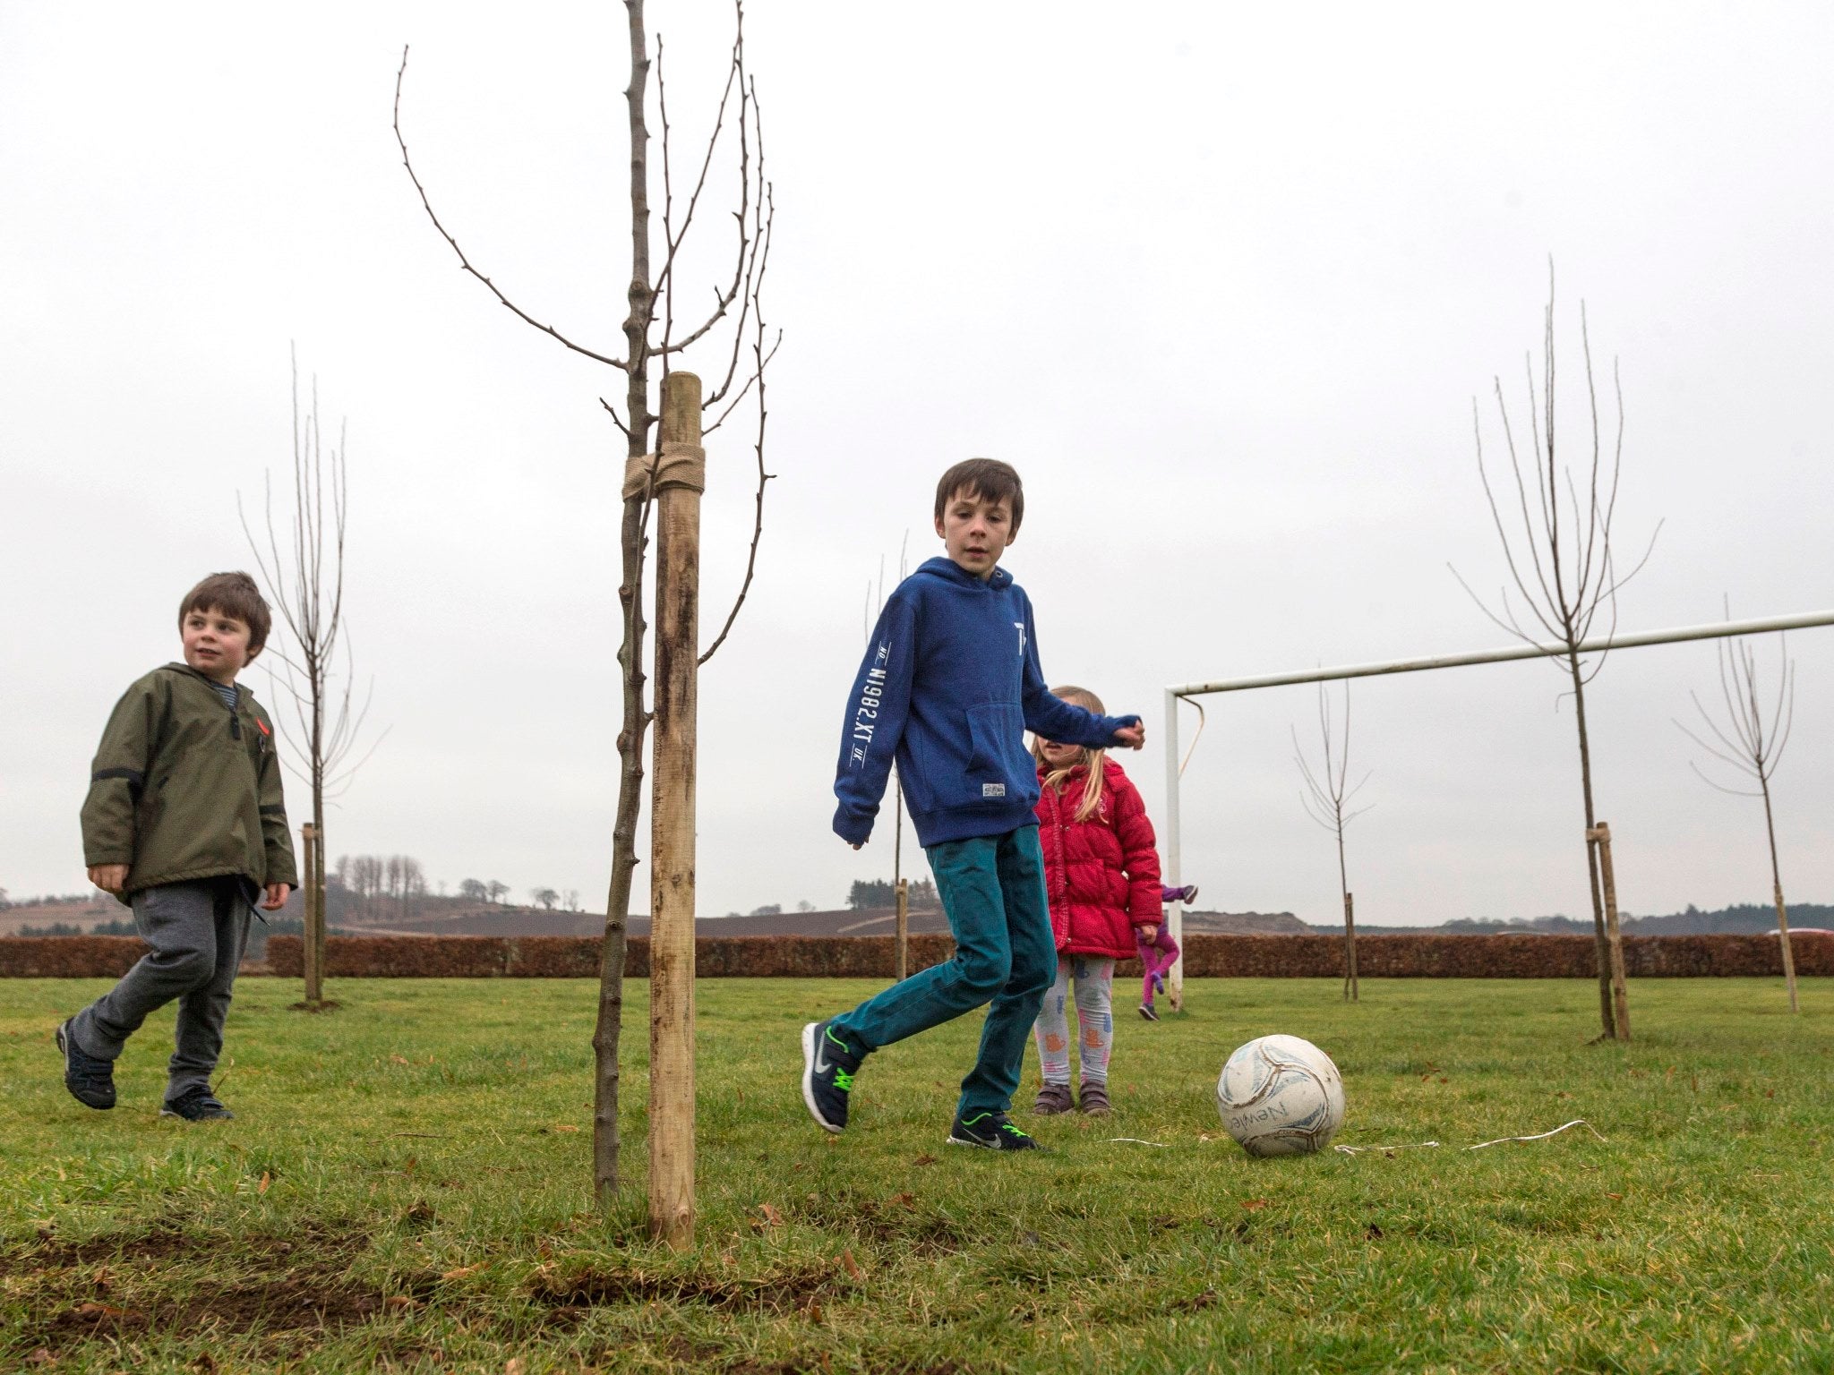
[[[1513,493],[1491,482],[1484,462],[1484,424],[1476,398],[1471,400],[1471,425],[1476,434],[1478,478],[1489,504],[1491,524],[1502,543],[1504,563],[1517,596],[1508,585],[1498,590],[1493,610],[1471,590],[1471,585],[1453,568],[1460,587],[1489,620],[1509,634],[1531,645],[1555,647],[1552,658],[1572,684],[1574,722],[1579,732],[1579,788],[1586,814],[1586,869],[1592,884],[1592,928],[1597,942],[1599,974],[1599,1040],[1630,1040],[1630,1006],[1623,981],[1623,939],[1618,931],[1616,904],[1605,902],[1599,886],[1597,816],[1592,807],[1592,741],[1586,735],[1586,684],[1605,667],[1605,651],[1583,654],[1581,645],[1603,612],[1607,634],[1618,629],[1618,592],[1629,583],[1656,546],[1662,522],[1649,537],[1643,556],[1619,574],[1612,544],[1618,513],[1618,475],[1623,462],[1623,385],[1618,378],[1618,359],[1612,359],[1612,394],[1618,407],[1616,438],[1607,446],[1601,438],[1599,396],[1592,370],[1592,339],[1586,332],[1586,306],[1579,302],[1579,343],[1585,358],[1586,402],[1590,420],[1590,453],[1579,480],[1574,469],[1561,462],[1555,447],[1555,367],[1553,367],[1553,268],[1548,266],[1548,308],[1542,315],[1541,389],[1535,387],[1533,358],[1524,358],[1528,378],[1528,446],[1517,446],[1509,407],[1504,402],[1502,378],[1493,380],[1497,416],[1502,424],[1504,447],[1509,455]],[[1515,497],[1511,502],[1509,497]],[[1508,515],[1506,515],[1508,512]],[[1520,526],[1520,528],[1517,528]],[[1447,565],[1449,566],[1449,565]],[[1519,609],[1520,607],[1520,609]],[[1526,620],[1533,627],[1524,627]],[[1550,644],[1552,642],[1552,644]],[[1564,693],[1563,693],[1564,697]]]

